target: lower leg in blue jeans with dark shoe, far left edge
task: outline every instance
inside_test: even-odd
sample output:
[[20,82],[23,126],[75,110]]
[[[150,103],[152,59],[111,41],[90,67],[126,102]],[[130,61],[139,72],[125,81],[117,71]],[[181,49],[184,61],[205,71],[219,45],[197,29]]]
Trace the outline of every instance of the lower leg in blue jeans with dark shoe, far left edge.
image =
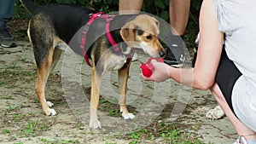
[[0,43],[5,48],[15,47],[15,39],[9,34],[7,24],[12,19],[14,13],[14,0],[0,1]]

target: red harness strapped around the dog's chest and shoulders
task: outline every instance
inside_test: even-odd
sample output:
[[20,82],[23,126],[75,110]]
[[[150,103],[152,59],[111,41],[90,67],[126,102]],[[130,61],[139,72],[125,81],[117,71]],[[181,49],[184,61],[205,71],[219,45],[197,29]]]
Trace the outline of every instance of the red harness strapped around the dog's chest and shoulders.
[[[118,44],[114,41],[113,37],[111,36],[110,33],[110,21],[113,20],[113,18],[115,17],[115,15],[111,14],[104,14],[103,12],[99,12],[96,14],[91,14],[90,15],[90,20],[88,20],[88,22],[86,23],[86,25],[84,26],[83,32],[82,32],[82,39],[81,39],[81,44],[80,44],[80,49],[83,50],[83,55],[84,55],[84,59],[86,61],[86,63],[90,65],[90,60],[88,58],[88,56],[86,55],[86,50],[84,49],[84,45],[86,43],[86,35],[87,32],[89,30],[90,25],[93,23],[94,20],[96,20],[97,18],[102,18],[102,19],[106,19],[106,34],[108,37],[108,41],[109,43],[111,43],[112,47],[114,48],[114,50],[116,52],[122,53],[121,49],[119,49]],[[124,54],[122,54],[124,55]],[[131,56],[127,58],[125,65],[122,68],[125,68],[126,66],[128,66],[128,64],[131,62]]]

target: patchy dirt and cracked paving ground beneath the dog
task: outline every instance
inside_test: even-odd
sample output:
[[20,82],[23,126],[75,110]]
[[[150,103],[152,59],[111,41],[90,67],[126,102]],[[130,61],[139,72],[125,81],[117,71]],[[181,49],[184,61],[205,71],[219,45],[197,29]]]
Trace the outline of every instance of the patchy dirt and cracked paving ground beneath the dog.
[[[150,83],[144,84],[139,80],[138,73],[140,72],[139,66],[141,61],[134,62],[134,65],[131,67],[131,84],[129,84],[129,89],[133,96],[128,100],[130,104],[128,108],[137,116],[144,117],[144,113],[149,113],[152,116],[150,118],[153,118],[153,121],[146,117],[141,119],[143,124],[148,121],[148,126],[145,125],[145,130],[150,131],[144,132],[144,136],[137,138],[137,133],[127,135],[129,132],[118,130],[119,124],[124,123],[124,120],[120,118],[117,102],[114,99],[108,99],[108,96],[102,97],[100,110],[102,115],[108,115],[110,120],[106,117],[100,117],[103,129],[91,130],[89,128],[89,115],[88,113],[84,114],[86,113],[84,108],[81,112],[74,111],[76,105],[71,105],[68,102],[69,99],[67,99],[67,93],[65,93],[67,89],[63,86],[63,69],[61,69],[61,64],[58,64],[55,72],[49,76],[49,83],[46,86],[47,100],[54,103],[57,115],[45,116],[34,91],[37,71],[32,54],[32,46],[28,43],[27,37],[24,34],[26,32],[26,22],[13,21],[11,25],[13,29],[15,29],[15,26],[19,27],[19,31],[12,32],[18,35],[16,37],[19,37],[17,39],[18,48],[3,49],[0,47],[0,143],[174,143],[166,141],[165,138],[167,136],[163,135],[166,133],[156,136],[159,130],[167,131],[166,125],[160,124],[168,124],[168,129],[169,127],[175,127],[175,130],[180,130],[183,134],[189,133],[189,138],[185,135],[186,140],[189,139],[191,141],[189,143],[212,142],[226,144],[235,140],[236,133],[227,118],[222,118],[218,121],[205,118],[207,110],[217,105],[209,91],[181,89],[180,85],[174,82],[161,84],[160,91],[155,91],[155,85]],[[85,72],[84,67],[82,69]],[[87,67],[81,80],[86,96],[90,95],[89,73],[90,69]],[[111,79],[111,83],[117,86],[115,79]],[[143,88],[141,85],[143,85]],[[73,89],[73,87],[71,88]],[[141,92],[140,94],[137,93],[137,89]],[[176,104],[173,101],[177,101],[179,92],[183,90],[189,93],[189,101],[184,100],[186,101],[184,110],[184,107],[179,105],[182,106],[180,109],[183,112],[179,113],[177,119],[173,121],[170,118],[172,108]],[[157,97],[158,99],[163,98],[163,100],[166,100],[163,107],[161,107],[162,103],[156,104],[154,96],[148,96],[153,93],[159,96]],[[166,94],[171,96],[166,98]],[[160,109],[158,109],[159,106]],[[83,105],[82,107],[86,106]],[[143,111],[144,109],[141,107],[150,110]],[[155,111],[151,112],[152,109],[155,109]],[[156,112],[157,110],[159,112]],[[117,121],[110,122],[116,119]],[[124,124],[125,128],[134,128],[139,124],[139,121],[137,119]],[[140,127],[142,128],[139,125]],[[119,131],[119,133],[113,135],[109,131]],[[174,131],[172,130],[172,135],[174,135]],[[148,137],[151,137],[151,139],[148,139]],[[185,137],[180,139],[185,139]],[[197,139],[199,141],[195,141]]]

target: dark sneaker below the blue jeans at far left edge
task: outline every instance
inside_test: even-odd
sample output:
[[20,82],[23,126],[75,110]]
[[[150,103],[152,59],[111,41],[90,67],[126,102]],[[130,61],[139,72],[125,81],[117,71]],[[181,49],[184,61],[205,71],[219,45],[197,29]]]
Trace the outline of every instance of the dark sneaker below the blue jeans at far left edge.
[[0,44],[3,48],[14,48],[17,47],[15,39],[11,37],[8,29],[4,28],[0,30]]

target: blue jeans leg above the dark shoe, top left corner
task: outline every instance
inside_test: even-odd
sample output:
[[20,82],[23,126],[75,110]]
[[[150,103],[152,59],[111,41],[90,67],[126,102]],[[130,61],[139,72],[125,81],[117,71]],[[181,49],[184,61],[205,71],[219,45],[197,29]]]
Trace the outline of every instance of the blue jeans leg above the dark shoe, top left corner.
[[0,30],[6,28],[14,14],[14,0],[0,0]]

